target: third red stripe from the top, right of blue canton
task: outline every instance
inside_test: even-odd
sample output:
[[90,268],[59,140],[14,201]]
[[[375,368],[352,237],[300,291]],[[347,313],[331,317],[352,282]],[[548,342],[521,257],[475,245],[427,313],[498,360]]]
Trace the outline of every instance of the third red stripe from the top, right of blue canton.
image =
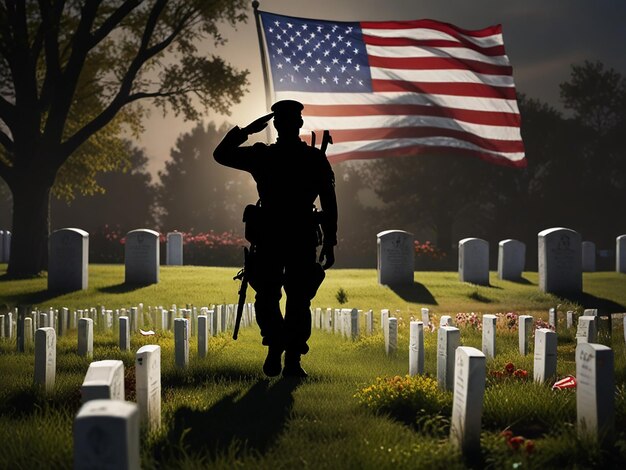
[[510,65],[495,65],[455,57],[377,57],[368,56],[370,67],[403,70],[471,70],[485,75],[513,74]]

